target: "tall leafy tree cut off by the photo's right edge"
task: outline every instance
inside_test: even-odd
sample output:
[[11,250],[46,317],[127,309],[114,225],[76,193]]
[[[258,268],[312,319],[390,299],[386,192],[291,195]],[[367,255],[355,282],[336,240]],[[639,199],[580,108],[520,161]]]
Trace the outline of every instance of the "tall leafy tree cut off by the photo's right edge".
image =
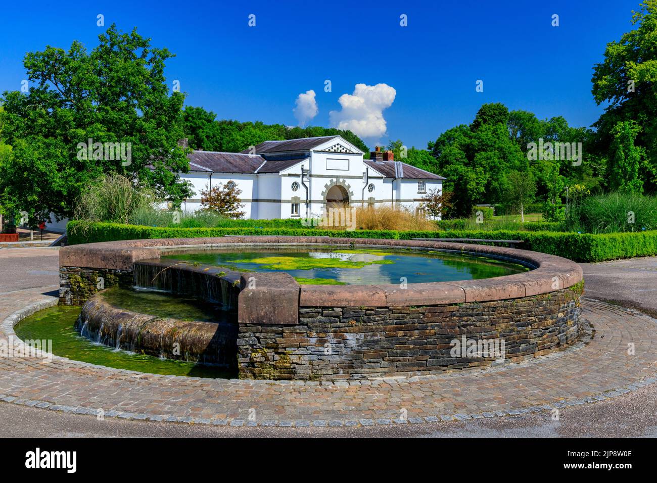
[[[657,188],[657,0],[641,3],[633,12],[634,30],[607,44],[604,61],[593,73],[593,96],[598,104],[608,103],[594,124],[600,150],[610,161],[618,150],[614,139],[619,122],[635,122],[637,147],[645,149],[639,169],[646,191]],[[627,126],[621,129],[626,129]],[[612,152],[613,150],[613,152]]]

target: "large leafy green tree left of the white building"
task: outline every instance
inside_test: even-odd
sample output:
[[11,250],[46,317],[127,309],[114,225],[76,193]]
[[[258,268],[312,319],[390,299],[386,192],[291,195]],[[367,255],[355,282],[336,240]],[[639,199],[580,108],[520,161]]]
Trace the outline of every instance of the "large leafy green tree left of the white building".
[[[47,46],[28,53],[29,92],[2,97],[2,141],[12,146],[0,156],[5,214],[27,212],[32,225],[51,212],[70,217],[81,190],[108,172],[139,179],[173,202],[188,196],[177,174],[189,169],[177,146],[184,95],[166,83],[170,57],[136,29],[125,34],[114,25],[91,52],[74,41],[67,51]],[[89,139],[125,143],[129,159],[106,151],[83,156],[80,143]]]

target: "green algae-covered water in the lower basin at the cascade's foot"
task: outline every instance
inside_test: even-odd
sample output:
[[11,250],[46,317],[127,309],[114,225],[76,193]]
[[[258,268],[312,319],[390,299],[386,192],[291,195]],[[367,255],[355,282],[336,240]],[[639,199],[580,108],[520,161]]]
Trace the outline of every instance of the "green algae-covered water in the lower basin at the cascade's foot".
[[[130,290],[120,290],[120,292],[130,292]],[[114,297],[120,297],[120,294],[115,293]],[[164,294],[160,297],[171,298]],[[151,310],[153,306],[154,302],[151,297]],[[146,306],[141,307],[141,311],[146,308]],[[187,313],[189,313],[189,310],[189,307],[183,308],[183,311],[187,311]],[[224,379],[235,377],[235,374],[212,365],[173,359],[160,359],[160,357],[117,350],[104,344],[93,342],[80,336],[78,331],[74,329],[74,324],[78,319],[79,313],[79,307],[56,306],[48,308],[20,321],[14,328],[14,331],[22,340],[52,340],[53,354],[55,356],[68,357],[68,359],[74,359],[76,361],[143,373]]]

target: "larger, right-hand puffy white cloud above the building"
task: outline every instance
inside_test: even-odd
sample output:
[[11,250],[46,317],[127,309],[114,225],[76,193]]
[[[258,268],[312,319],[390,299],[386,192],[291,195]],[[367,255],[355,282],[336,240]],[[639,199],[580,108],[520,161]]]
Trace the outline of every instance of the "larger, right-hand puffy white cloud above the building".
[[383,110],[392,106],[397,91],[388,84],[356,84],[353,94],[338,99],[342,110],[328,113],[330,124],[359,137],[378,139],[386,133]]

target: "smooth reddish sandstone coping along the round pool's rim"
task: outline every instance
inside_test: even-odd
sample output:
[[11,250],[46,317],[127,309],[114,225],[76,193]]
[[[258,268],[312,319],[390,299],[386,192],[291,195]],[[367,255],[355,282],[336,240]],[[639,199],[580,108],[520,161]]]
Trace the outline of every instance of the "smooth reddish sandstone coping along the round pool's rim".
[[[355,239],[330,237],[216,237],[148,239],[65,246],[60,267],[131,270],[134,262],[160,258],[162,248],[211,248],[227,244],[337,244],[428,248],[504,258],[535,269],[495,277],[400,285],[301,285],[300,307],[383,307],[487,302],[534,296],[572,287],[582,280],[581,267],[566,258],[518,248],[420,240]],[[292,279],[294,280],[294,279]],[[296,281],[295,281],[296,283]]]

